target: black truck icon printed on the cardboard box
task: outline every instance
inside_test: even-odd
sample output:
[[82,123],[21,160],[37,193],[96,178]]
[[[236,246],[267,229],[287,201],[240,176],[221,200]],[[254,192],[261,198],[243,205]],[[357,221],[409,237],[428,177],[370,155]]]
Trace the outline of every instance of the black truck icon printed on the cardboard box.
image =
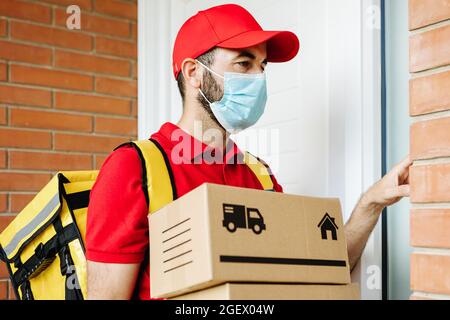
[[264,218],[258,209],[236,204],[223,204],[222,225],[231,233],[237,229],[252,229],[255,234],[261,234],[266,230]]

